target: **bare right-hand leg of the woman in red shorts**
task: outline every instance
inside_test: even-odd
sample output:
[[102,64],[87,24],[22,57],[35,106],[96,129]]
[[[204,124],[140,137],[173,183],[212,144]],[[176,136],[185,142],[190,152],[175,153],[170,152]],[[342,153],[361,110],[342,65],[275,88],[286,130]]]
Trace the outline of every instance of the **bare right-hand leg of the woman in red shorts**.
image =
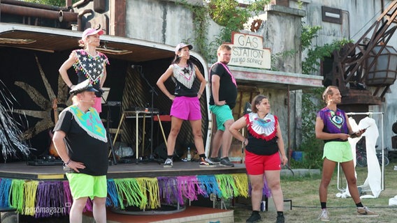
[[266,181],[272,192],[275,210],[284,211],[284,196],[280,185],[280,170],[265,171]]

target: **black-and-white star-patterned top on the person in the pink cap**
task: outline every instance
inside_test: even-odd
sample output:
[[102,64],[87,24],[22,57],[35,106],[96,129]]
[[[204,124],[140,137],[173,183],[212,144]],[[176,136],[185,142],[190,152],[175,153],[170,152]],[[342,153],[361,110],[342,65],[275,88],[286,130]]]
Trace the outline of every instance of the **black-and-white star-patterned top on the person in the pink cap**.
[[73,63],[73,68],[78,76],[84,75],[93,85],[99,84],[103,77],[104,67],[109,64],[108,57],[101,52],[97,52],[96,56],[91,56],[84,49],[75,49],[72,54],[75,54],[77,58]]

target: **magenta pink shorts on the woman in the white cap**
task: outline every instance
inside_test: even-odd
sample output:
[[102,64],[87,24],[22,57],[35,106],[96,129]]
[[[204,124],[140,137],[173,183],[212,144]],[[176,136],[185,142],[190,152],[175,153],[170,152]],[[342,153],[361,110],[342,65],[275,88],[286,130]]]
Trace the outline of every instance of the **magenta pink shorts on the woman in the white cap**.
[[170,115],[182,120],[200,120],[200,101],[197,97],[175,97],[173,105],[171,106]]

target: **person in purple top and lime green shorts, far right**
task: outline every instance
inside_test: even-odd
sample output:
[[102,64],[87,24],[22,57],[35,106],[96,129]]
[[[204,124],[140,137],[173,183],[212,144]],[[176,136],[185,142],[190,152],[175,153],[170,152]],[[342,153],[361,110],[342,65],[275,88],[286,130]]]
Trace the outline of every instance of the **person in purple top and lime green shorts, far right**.
[[319,215],[319,220],[324,222],[330,220],[328,210],[326,209],[326,200],[333,170],[338,162],[343,169],[343,173],[345,173],[352,199],[356,203],[357,215],[376,217],[377,213],[369,210],[361,203],[354,172],[352,149],[347,141],[351,134],[356,134],[356,136],[360,137],[365,130],[353,133],[347,115],[337,107],[342,99],[338,87],[328,86],[322,98],[326,103],[326,107],[317,113],[315,126],[317,139],[322,139],[325,142],[322,181],[319,186],[319,198],[322,206],[322,213]]

